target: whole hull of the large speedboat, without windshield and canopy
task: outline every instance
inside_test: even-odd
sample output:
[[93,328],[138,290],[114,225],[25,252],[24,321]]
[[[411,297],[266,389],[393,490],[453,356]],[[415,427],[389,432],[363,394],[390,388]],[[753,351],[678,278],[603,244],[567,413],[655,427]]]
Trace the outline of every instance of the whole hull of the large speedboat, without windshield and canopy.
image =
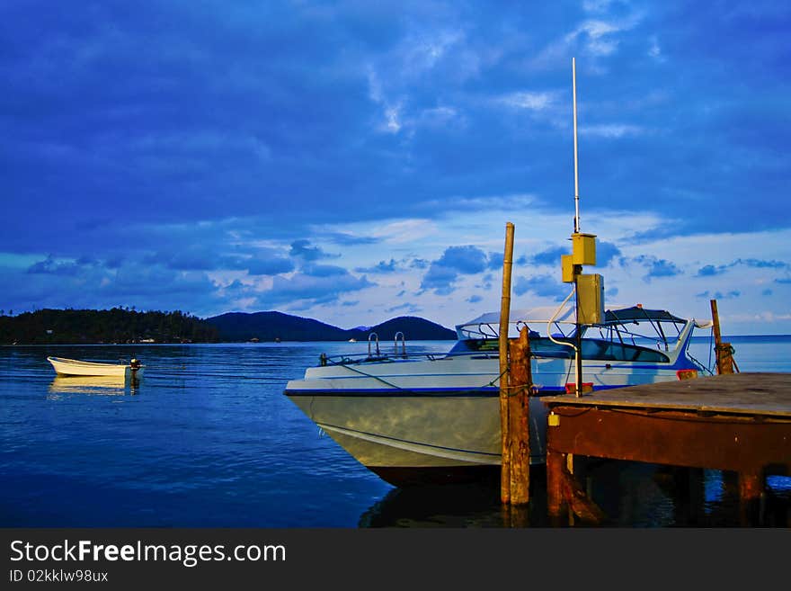
[[[531,365],[543,395],[564,392],[573,375],[564,360]],[[498,369],[491,358],[318,367],[308,369],[305,380],[290,381],[285,394],[357,461],[396,486],[479,479],[499,473],[502,457]],[[678,379],[672,367],[591,363],[584,370],[598,390]],[[540,395],[530,397],[529,411],[530,462],[539,464],[547,432]]]

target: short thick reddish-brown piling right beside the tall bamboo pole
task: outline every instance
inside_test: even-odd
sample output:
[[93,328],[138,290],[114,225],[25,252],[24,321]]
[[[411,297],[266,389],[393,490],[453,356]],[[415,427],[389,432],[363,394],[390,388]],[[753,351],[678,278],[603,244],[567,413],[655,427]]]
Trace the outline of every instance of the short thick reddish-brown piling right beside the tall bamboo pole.
[[511,455],[511,505],[523,505],[530,500],[530,412],[529,390],[530,340],[528,327],[522,327],[519,339],[512,339],[509,360],[509,444]]

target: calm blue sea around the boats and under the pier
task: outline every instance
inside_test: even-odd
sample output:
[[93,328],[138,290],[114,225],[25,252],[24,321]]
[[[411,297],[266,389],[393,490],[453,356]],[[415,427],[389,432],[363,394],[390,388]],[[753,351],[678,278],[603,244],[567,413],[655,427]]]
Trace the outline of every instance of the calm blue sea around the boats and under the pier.
[[[791,372],[791,337],[730,339],[742,372]],[[409,344],[411,353],[449,342]],[[502,526],[491,486],[393,488],[282,391],[319,354],[366,343],[0,347],[0,526]],[[692,345],[709,363],[707,340]],[[138,387],[61,383],[48,355],[146,364]],[[608,525],[738,524],[732,475],[602,462],[588,487]],[[549,525],[540,474],[523,523]],[[791,525],[771,477],[769,524]],[[691,487],[691,488],[696,488]],[[680,490],[686,491],[684,494]]]

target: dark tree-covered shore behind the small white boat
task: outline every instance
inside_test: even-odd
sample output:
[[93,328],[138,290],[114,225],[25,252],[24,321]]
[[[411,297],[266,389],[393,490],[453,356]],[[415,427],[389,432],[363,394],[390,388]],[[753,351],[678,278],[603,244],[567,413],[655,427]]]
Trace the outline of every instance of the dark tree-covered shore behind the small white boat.
[[218,328],[181,310],[40,309],[0,315],[0,344],[216,343]]

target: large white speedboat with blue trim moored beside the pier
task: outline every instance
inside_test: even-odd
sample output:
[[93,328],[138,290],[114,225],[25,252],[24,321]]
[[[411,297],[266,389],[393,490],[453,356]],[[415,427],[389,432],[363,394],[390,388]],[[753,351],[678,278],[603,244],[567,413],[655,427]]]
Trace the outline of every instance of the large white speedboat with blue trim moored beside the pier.
[[[547,407],[541,396],[574,388],[573,306],[511,312],[510,336],[529,327],[533,354],[531,462],[545,459]],[[547,320],[547,318],[549,320]],[[689,356],[695,327],[658,309],[609,309],[605,322],[582,327],[582,384],[593,390],[696,377]],[[501,459],[499,314],[457,327],[447,354],[399,350],[351,357],[322,355],[285,394],[316,425],[382,479],[396,485],[475,479]]]

